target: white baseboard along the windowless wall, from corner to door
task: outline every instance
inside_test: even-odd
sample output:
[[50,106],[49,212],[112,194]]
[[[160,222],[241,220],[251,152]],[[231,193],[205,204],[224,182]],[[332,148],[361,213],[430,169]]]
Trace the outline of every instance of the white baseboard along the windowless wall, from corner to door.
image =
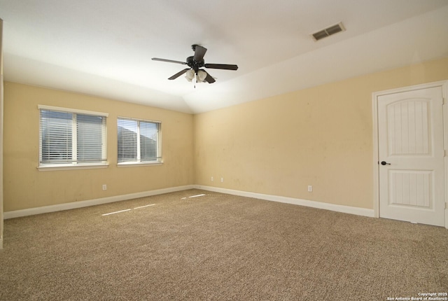
[[281,203],[287,203],[287,204],[295,204],[295,205],[300,205],[300,206],[305,206],[305,207],[313,207],[313,208],[318,208],[318,209],[342,212],[344,214],[355,214],[357,216],[368,216],[371,218],[374,217],[373,209],[365,209],[365,208],[350,207],[350,206],[344,206],[344,205],[338,205],[338,204],[301,200],[301,199],[295,199],[293,197],[280,197],[278,195],[265,195],[262,193],[251,193],[248,191],[216,188],[216,187],[211,187],[211,186],[196,185],[194,187],[197,189],[214,191],[216,193],[227,193],[229,195],[239,195],[241,197],[253,197],[255,199],[260,199],[260,200],[281,202]]

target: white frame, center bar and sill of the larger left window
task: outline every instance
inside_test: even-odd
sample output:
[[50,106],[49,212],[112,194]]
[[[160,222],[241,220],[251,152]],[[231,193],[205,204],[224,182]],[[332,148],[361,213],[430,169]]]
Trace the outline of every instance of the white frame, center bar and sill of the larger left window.
[[[70,109],[70,108],[62,108],[59,106],[46,106],[39,104],[39,126],[38,126],[38,144],[39,144],[39,153],[38,153],[38,167],[39,171],[47,171],[47,170],[66,170],[66,169],[97,169],[97,168],[106,168],[109,167],[109,160],[107,158],[107,119],[109,117],[109,113],[103,112],[95,112],[95,111],[85,111],[80,109]],[[78,115],[89,115],[89,116],[98,116],[106,118],[104,122],[104,131],[102,131],[102,157],[105,158],[102,162],[71,162],[71,163],[43,163],[41,162],[42,158],[42,132],[41,132],[41,111],[54,111],[60,113],[72,113],[76,114],[76,118]],[[72,133],[76,133],[76,123],[72,123]],[[76,133],[77,134],[77,133]],[[76,134],[73,134],[76,137]],[[73,148],[76,148],[77,141],[76,139],[72,139],[72,152],[77,153],[76,149],[73,151]]]

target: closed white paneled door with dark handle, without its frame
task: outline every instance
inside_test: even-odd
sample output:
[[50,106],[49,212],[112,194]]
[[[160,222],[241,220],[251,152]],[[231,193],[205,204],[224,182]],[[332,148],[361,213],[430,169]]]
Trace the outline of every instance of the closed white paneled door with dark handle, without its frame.
[[444,226],[442,87],[378,97],[379,216]]

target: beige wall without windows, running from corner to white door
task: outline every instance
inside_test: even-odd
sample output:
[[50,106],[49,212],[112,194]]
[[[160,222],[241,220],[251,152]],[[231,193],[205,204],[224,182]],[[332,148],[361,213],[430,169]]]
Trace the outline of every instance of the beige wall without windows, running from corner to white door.
[[199,114],[195,183],[373,209],[372,92],[447,79],[448,58]]

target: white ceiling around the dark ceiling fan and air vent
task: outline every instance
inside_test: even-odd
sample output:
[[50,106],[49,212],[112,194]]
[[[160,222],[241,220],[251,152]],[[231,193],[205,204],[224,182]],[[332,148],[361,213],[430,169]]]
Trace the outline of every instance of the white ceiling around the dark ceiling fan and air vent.
[[[187,113],[448,56],[447,0],[0,0],[0,18],[5,80]],[[193,44],[239,69],[193,87],[151,60]]]

